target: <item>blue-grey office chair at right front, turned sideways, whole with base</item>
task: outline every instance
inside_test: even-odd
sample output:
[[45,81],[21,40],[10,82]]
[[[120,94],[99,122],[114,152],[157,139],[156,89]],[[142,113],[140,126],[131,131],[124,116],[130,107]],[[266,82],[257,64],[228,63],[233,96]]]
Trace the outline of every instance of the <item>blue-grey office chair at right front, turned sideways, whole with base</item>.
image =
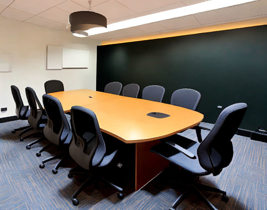
[[175,166],[181,167],[185,171],[195,176],[194,181],[177,182],[188,186],[187,190],[181,194],[169,210],[176,207],[187,197],[190,192],[200,197],[209,209],[215,209],[209,200],[199,191],[200,189],[223,194],[222,200],[228,201],[226,192],[217,188],[197,183],[199,176],[212,174],[217,176],[222,169],[227,167],[232,161],[233,145],[232,137],[235,135],[245,113],[247,105],[245,103],[233,104],[223,109],[219,115],[213,129],[207,137],[199,142],[182,137],[177,140],[173,136],[163,138],[162,143],[153,146],[150,151],[161,155]]

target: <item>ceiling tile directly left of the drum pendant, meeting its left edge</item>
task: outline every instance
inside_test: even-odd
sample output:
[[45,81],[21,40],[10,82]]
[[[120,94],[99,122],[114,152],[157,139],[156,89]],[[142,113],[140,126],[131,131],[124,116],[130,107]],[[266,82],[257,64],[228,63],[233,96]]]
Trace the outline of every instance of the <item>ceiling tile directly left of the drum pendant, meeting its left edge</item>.
[[51,9],[40,13],[38,16],[60,23],[69,24],[69,14],[70,13],[60,10],[57,7],[52,7]]

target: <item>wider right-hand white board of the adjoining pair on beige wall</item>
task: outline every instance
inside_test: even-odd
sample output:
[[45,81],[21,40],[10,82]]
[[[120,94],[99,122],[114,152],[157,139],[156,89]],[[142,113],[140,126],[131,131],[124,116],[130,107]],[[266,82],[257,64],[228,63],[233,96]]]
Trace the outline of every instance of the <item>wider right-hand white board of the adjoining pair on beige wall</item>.
[[63,48],[62,68],[88,68],[89,51]]

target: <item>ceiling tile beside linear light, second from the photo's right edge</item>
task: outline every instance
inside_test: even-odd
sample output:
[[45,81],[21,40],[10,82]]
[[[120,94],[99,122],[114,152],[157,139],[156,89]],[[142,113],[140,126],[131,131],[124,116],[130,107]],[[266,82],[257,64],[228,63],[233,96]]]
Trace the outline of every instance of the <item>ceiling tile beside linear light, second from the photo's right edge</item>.
[[171,30],[200,25],[193,15],[160,21],[158,22],[158,24],[167,27]]

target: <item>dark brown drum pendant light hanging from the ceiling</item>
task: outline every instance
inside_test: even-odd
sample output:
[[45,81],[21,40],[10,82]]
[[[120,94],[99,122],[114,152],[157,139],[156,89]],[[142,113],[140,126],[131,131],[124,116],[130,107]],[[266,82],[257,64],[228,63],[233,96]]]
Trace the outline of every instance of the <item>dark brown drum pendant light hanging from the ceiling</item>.
[[[91,0],[89,10],[91,9]],[[72,35],[77,37],[86,37],[88,33],[86,30],[95,27],[107,27],[107,18],[101,14],[91,11],[79,11],[69,15],[70,31]]]

